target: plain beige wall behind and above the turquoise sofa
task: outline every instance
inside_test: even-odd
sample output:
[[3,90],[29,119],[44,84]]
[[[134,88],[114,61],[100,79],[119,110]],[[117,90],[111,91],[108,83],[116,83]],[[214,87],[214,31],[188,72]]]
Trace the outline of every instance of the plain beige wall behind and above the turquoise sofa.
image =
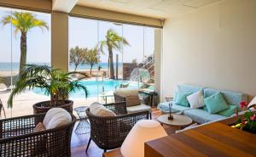
[[179,83],[256,95],[256,1],[226,0],[166,20],[163,93]]

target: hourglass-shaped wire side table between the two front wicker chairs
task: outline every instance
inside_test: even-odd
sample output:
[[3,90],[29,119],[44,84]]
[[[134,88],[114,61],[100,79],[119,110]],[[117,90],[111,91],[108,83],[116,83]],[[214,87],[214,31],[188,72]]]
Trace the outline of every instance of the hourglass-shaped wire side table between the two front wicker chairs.
[[88,116],[85,113],[87,108],[88,106],[81,106],[74,109],[79,115],[79,124],[75,130],[75,133],[77,134],[86,134],[90,132],[90,124],[87,120]]

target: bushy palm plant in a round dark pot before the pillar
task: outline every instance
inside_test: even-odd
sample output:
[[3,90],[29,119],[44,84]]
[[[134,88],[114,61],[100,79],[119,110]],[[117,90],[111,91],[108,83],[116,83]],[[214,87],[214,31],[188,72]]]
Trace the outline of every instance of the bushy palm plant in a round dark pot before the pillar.
[[[73,75],[81,75],[79,79],[74,79]],[[24,92],[26,89],[40,88],[50,96],[49,101],[33,104],[34,114],[47,112],[54,107],[61,107],[67,111],[73,111],[73,101],[68,100],[68,95],[77,90],[84,91],[87,98],[88,90],[79,81],[87,75],[79,72],[65,72],[60,69],[49,67],[48,65],[26,64],[26,68],[20,74],[15,84],[15,89],[9,96],[8,107],[13,107],[15,95]]]

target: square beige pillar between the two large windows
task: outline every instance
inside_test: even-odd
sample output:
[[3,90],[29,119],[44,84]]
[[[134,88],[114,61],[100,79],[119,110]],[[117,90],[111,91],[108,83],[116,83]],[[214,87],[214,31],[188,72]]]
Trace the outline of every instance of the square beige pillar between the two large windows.
[[51,65],[68,70],[68,14],[51,14]]

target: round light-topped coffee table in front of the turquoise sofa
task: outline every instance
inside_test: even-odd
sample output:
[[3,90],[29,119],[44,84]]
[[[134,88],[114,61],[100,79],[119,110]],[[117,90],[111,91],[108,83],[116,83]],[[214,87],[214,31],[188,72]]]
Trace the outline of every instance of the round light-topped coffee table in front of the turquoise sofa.
[[186,115],[173,115],[173,120],[168,120],[169,114],[160,115],[157,118],[157,121],[161,123],[161,125],[165,124],[167,126],[176,126],[178,129],[182,129],[184,126],[189,126],[193,121]]

